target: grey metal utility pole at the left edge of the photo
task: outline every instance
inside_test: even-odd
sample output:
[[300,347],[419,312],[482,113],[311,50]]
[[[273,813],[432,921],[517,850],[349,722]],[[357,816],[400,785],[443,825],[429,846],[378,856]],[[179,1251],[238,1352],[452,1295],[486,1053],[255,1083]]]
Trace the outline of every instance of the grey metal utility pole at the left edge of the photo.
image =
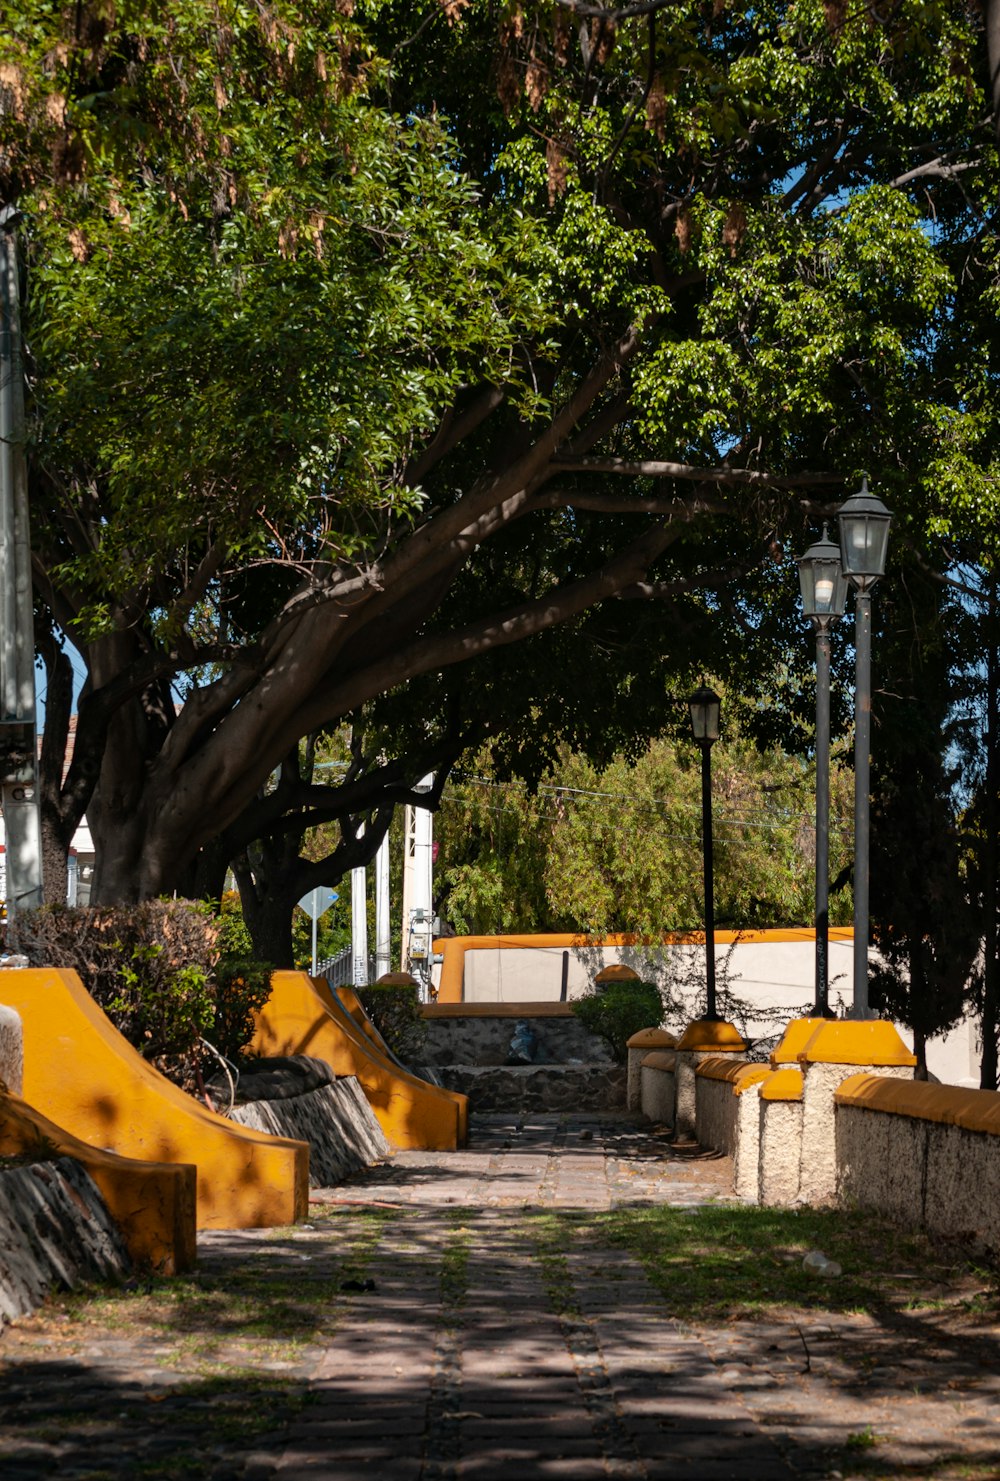
[[41,905],[19,221],[13,206],[0,209],[0,809],[6,829],[7,930],[15,945],[18,911]]

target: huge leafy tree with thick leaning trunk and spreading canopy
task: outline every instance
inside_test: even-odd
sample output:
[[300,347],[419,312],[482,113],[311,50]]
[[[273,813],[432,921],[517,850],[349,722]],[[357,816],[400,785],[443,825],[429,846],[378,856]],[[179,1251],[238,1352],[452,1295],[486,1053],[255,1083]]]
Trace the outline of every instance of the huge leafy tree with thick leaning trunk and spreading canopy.
[[816,496],[938,450],[964,12],[347,9],[15,0],[0,43],[39,618],[89,675],[46,820],[99,899],[335,813],[287,758],[424,675],[750,606]]

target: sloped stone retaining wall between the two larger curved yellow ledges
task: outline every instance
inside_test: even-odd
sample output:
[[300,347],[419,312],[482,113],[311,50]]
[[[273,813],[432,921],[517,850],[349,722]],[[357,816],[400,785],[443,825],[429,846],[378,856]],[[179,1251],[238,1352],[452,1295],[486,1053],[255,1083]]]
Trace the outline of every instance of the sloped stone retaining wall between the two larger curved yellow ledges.
[[230,1120],[310,1146],[310,1185],[330,1188],[388,1157],[390,1145],[353,1075],[280,1100],[234,1106]]

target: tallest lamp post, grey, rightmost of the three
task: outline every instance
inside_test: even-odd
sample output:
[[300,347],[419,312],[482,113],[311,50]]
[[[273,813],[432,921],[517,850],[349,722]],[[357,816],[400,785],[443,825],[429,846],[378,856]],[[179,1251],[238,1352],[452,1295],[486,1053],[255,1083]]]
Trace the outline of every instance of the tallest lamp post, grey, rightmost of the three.
[[871,588],[884,575],[892,514],[868,480],[837,511],[840,564],[855,588],[855,994],[868,1017],[868,794],[871,791]]

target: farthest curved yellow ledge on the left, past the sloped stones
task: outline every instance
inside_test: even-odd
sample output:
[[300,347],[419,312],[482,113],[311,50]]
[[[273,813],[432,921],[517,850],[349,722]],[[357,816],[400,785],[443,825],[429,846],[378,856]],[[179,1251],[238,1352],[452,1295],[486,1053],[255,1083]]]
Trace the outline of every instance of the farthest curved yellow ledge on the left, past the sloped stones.
[[271,977],[271,997],[256,1014],[253,1053],[311,1054],[326,1060],[335,1075],[356,1075],[396,1148],[455,1151],[465,1143],[467,1097],[394,1063],[329,986],[317,986],[304,972],[276,972]]

